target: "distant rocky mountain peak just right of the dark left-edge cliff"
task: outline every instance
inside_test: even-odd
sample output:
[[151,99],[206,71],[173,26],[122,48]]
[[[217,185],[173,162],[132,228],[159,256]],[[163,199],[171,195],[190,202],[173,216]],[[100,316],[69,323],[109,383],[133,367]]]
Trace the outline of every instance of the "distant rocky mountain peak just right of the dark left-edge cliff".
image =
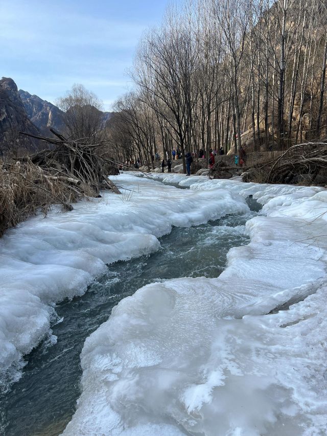
[[59,132],[64,131],[63,112],[54,104],[19,89],[19,96],[25,106],[28,117],[46,136],[51,136],[50,127]]

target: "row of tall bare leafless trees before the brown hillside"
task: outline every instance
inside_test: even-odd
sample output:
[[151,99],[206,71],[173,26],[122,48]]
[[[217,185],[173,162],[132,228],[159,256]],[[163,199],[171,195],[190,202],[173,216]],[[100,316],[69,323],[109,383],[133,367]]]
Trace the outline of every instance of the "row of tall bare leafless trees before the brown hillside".
[[173,147],[183,156],[269,150],[325,135],[326,29],[324,0],[171,7],[139,42],[134,90],[109,123],[112,146],[150,163]]

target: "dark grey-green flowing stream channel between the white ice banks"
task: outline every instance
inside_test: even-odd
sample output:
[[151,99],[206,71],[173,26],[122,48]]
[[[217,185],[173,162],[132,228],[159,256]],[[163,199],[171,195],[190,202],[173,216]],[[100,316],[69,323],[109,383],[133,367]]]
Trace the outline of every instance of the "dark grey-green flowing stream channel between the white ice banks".
[[[254,210],[253,205],[251,209]],[[105,322],[112,308],[138,288],[179,277],[218,277],[227,251],[248,243],[247,215],[229,215],[206,224],[174,227],[149,257],[108,266],[106,273],[72,301],[56,306],[49,336],[26,356],[22,377],[0,393],[0,434],[59,434],[74,414],[80,395],[80,352],[85,338]]]

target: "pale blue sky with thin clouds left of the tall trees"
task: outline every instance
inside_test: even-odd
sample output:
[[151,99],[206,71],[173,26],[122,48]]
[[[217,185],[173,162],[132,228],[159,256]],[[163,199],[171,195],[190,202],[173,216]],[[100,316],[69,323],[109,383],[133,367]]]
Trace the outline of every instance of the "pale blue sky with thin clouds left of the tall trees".
[[104,110],[132,87],[139,38],[168,0],[0,0],[0,78],[55,103],[82,83]]

